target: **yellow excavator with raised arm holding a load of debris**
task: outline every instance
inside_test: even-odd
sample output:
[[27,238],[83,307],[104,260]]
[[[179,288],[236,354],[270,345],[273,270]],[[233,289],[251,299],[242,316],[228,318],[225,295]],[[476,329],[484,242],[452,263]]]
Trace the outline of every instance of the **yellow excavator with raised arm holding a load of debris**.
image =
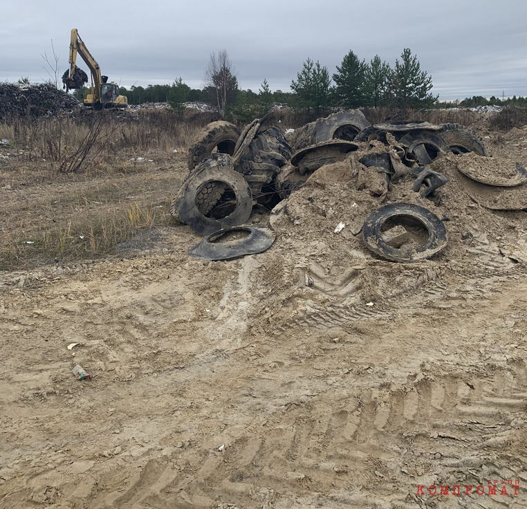
[[84,83],[88,82],[88,75],[77,67],[77,53],[82,57],[91,73],[91,91],[84,98],[84,106],[93,109],[103,108],[126,108],[128,100],[124,95],[119,95],[117,83],[108,83],[108,76],[103,76],[99,64],[91,56],[86,44],[79,37],[77,28],[71,30],[70,44],[70,68],[62,76],[62,82],[66,91],[69,89],[82,89]]

